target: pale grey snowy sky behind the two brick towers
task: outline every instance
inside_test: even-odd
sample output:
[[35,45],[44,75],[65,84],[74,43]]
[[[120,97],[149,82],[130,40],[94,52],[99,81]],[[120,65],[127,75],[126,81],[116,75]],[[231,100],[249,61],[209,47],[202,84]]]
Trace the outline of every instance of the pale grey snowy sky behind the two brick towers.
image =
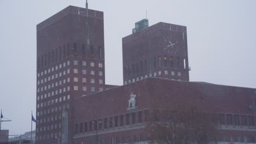
[[[36,25],[68,5],[85,7],[85,0],[0,0],[0,109],[13,120],[2,128],[30,131],[31,110],[36,115]],[[122,85],[121,38],[147,10],[150,26],[187,26],[190,81],[255,88],[255,6],[253,0],[89,0],[90,9],[104,11],[106,83]]]

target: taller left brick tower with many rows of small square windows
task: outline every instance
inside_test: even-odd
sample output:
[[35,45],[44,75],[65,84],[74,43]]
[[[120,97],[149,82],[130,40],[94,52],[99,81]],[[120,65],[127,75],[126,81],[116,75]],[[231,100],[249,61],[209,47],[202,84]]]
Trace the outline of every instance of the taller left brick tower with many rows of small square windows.
[[37,25],[37,143],[72,143],[74,98],[108,87],[102,11],[69,6]]

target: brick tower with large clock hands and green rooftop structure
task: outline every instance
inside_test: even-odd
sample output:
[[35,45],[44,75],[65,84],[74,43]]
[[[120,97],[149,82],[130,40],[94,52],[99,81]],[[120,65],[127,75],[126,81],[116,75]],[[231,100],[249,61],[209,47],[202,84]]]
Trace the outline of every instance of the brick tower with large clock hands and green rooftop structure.
[[148,20],[136,22],[123,38],[124,84],[146,77],[189,81],[187,27]]

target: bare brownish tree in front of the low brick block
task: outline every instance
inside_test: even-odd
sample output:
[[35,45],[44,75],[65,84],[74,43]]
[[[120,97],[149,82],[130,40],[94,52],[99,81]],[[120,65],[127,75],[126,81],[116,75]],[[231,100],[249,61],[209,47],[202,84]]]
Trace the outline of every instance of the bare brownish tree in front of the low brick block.
[[196,109],[153,110],[147,130],[151,143],[200,144],[217,143],[218,126],[207,113]]

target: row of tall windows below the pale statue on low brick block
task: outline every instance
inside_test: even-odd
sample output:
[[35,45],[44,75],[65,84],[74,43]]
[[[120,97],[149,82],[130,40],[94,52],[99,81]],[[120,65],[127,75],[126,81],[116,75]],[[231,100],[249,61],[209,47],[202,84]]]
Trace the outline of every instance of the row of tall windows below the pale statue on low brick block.
[[[142,123],[148,121],[149,111],[138,111],[132,113],[126,113],[123,115],[95,119],[89,122],[76,123],[75,124],[75,134],[85,133],[92,130],[101,130],[112,127],[119,127],[123,125]],[[143,117],[144,116],[144,117]]]

